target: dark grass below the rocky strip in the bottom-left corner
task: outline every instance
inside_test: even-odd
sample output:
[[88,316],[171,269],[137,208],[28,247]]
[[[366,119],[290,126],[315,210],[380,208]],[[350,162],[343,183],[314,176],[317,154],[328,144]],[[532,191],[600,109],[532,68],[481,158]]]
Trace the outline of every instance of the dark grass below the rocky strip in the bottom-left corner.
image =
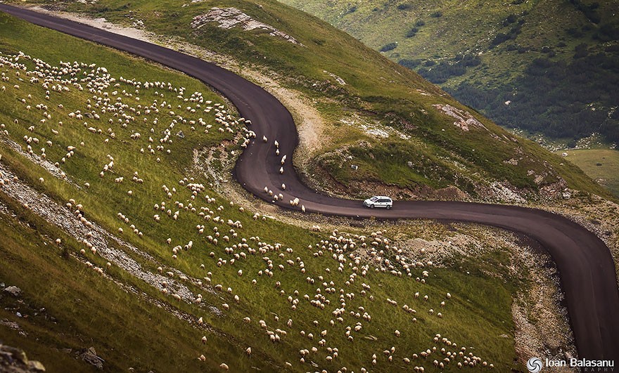
[[[15,204],[11,206],[4,193],[0,197],[18,214],[0,214],[0,278],[7,286],[17,284],[23,290],[21,303],[2,296],[0,317],[18,322],[29,334],[3,332],[2,340],[23,348],[30,359],[44,362],[48,371],[90,371],[86,363],[59,349],[79,351],[91,346],[106,360],[104,367],[115,371],[129,367],[140,371],[196,371],[205,365],[215,369],[221,363],[217,358],[234,358],[239,367],[246,368],[267,364],[243,359],[243,355],[234,353],[238,348],[234,341],[215,333],[208,335],[219,356],[200,362],[197,357],[207,348],[196,342],[204,331],[65,257],[53,243],[55,237],[64,236],[56,227]],[[79,244],[69,238],[63,240],[63,246],[79,249]],[[114,280],[129,280],[114,270],[108,275]],[[18,318],[7,309],[9,305],[30,317]]]

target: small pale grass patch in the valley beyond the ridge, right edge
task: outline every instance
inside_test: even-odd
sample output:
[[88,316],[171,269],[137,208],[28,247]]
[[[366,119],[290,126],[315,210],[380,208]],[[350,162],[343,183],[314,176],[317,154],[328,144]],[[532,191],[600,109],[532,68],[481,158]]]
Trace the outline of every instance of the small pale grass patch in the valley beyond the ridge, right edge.
[[610,149],[568,150],[564,158],[579,166],[585,174],[599,180],[614,195],[619,196],[619,151]]

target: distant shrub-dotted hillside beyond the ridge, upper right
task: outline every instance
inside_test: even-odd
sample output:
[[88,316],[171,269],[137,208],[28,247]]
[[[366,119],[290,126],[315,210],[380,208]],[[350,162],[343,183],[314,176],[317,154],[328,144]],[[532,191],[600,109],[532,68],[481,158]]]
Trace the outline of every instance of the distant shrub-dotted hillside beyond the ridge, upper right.
[[619,140],[616,0],[283,3],[350,32],[498,124]]

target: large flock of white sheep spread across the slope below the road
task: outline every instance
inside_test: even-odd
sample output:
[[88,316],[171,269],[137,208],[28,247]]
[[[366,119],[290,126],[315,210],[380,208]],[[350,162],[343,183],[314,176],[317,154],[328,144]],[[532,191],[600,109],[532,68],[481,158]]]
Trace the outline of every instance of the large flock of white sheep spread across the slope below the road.
[[[199,131],[208,134],[215,128],[215,131],[221,134],[237,134],[241,148],[246,148],[257,136],[250,130],[250,120],[236,119],[224,105],[205,100],[198,92],[187,93],[185,89],[172,83],[137,81],[122,77],[115,79],[106,68],[94,64],[61,62],[54,66],[24,53],[0,54],[0,70],[0,95],[10,96],[13,102],[17,103],[20,112],[36,112],[34,117],[37,117],[36,120],[25,121],[20,119],[25,115],[14,115],[10,122],[0,124],[0,140],[11,138],[13,132],[25,131],[25,135],[20,136],[25,152],[36,155],[40,162],[53,164],[60,171],[60,178],[65,179],[66,183],[73,183],[74,180],[72,175],[65,174],[65,165],[79,162],[79,158],[89,152],[89,146],[106,147],[113,142],[125,143],[127,148],[134,147],[139,155],[153,157],[154,162],[159,164],[167,162],[166,157],[172,154],[172,144],[177,138],[182,140],[189,136],[185,133]],[[30,91],[39,92],[39,96],[23,93],[23,88],[27,85],[36,86],[38,91]],[[140,96],[146,91],[148,95],[143,97],[151,97],[150,100]],[[59,100],[65,97],[82,101],[79,105],[70,103],[70,100],[60,103]],[[6,112],[0,114],[7,115]],[[79,138],[74,139],[75,143],[62,146],[62,154],[58,155],[56,151],[56,156],[52,155],[50,149],[60,148],[60,142],[57,143],[55,138],[61,136],[63,129],[68,126],[73,129],[83,127],[84,131]],[[269,143],[265,136],[262,136],[262,141]],[[279,155],[279,144],[276,140],[272,144]],[[78,160],[74,160],[75,158]],[[130,165],[122,164],[117,159],[120,157],[110,153],[99,163],[96,177],[109,183],[106,188],[122,189],[124,195],[135,198],[136,190],[144,190],[142,186],[153,187],[149,180],[152,179],[151,175],[146,174],[146,171],[127,172]],[[279,164],[275,165],[280,167],[280,174],[283,174],[286,160],[287,155],[281,155]],[[119,171],[120,166],[124,171]],[[0,188],[8,182],[10,181],[0,178]],[[39,182],[45,183],[44,178],[39,178]],[[170,237],[167,237],[165,242],[160,242],[160,245],[167,247],[170,260],[162,261],[162,266],[157,270],[169,277],[178,276],[173,270],[177,261],[203,258],[204,263],[200,264],[203,275],[198,277],[200,280],[195,284],[204,292],[224,294],[229,301],[216,305],[223,312],[231,311],[245,300],[244,294],[234,292],[231,285],[233,280],[223,275],[234,273],[234,281],[245,281],[251,286],[258,282],[272,284],[269,289],[264,290],[265,294],[262,296],[269,299],[269,302],[285,302],[290,315],[302,312],[307,315],[319,314],[321,320],[328,319],[326,323],[313,320],[305,327],[302,327],[302,323],[295,320],[294,316],[279,320],[279,315],[275,315],[272,320],[264,320],[256,318],[255,315],[244,315],[239,320],[259,329],[265,343],[290,341],[290,334],[301,336],[303,344],[297,346],[298,356],[286,361],[286,367],[327,372],[321,366],[341,360],[350,346],[354,346],[355,341],[366,336],[364,329],[370,327],[375,332],[380,329],[383,334],[407,339],[407,334],[400,329],[407,330],[408,327],[385,330],[376,326],[381,325],[381,315],[371,314],[369,304],[372,302],[384,302],[390,308],[388,312],[398,313],[412,324],[428,318],[440,319],[449,313],[452,294],[430,296],[425,290],[425,285],[431,279],[430,268],[433,263],[411,257],[410,253],[393,245],[382,232],[358,235],[333,230],[328,237],[321,234],[323,238],[319,242],[293,249],[285,244],[268,242],[255,233],[248,233],[243,225],[249,225],[251,219],[255,221],[253,224],[260,221],[268,224],[270,219],[259,213],[251,214],[243,207],[236,207],[234,202],[218,202],[216,197],[212,197],[215,195],[212,184],[200,183],[198,177],[184,177],[175,183],[177,185],[166,183],[154,186],[153,189],[158,190],[158,194],[153,197],[148,208],[151,211],[151,221],[130,217],[139,216],[135,209],[139,210],[141,207],[110,207],[121,210],[116,213],[117,221],[120,222],[116,234],[122,237],[134,235],[131,240],[139,242],[148,234],[147,231],[152,232],[154,229],[167,232]],[[94,187],[91,187],[94,184],[94,180],[82,181],[80,185],[75,185],[75,188],[96,192]],[[282,184],[281,190],[286,190],[286,185]],[[273,192],[266,186],[264,192],[274,200],[284,198],[281,193]],[[298,198],[291,197],[291,205],[299,203]],[[75,210],[77,218],[82,219],[84,211],[88,210],[75,199],[68,201],[66,206],[72,211]],[[305,206],[301,208],[305,211]],[[127,211],[122,211],[123,209]],[[245,218],[248,221],[242,220]],[[174,237],[174,224],[177,221],[192,222],[191,240],[179,242],[179,239]],[[84,223],[87,223],[86,219]],[[147,230],[147,225],[154,225],[155,228]],[[319,231],[320,228],[314,226],[312,230]],[[88,237],[83,237],[83,242],[85,248],[80,254],[96,257],[96,247],[89,244]],[[56,243],[60,244],[60,240]],[[420,253],[418,258],[423,258],[423,253]],[[248,268],[253,268],[245,266],[249,261],[260,263],[260,270],[249,270]],[[112,266],[110,262],[105,266],[94,266],[90,261],[86,263],[98,273],[104,273],[106,268]],[[308,266],[308,263],[314,263],[314,266],[319,263],[322,268],[317,270],[314,266]],[[293,273],[298,281],[291,282],[289,273]],[[393,294],[394,299],[382,299],[375,295],[375,288],[366,280],[371,273],[410,278],[416,282],[415,287],[419,291],[414,295]],[[218,279],[217,282],[215,278]],[[226,278],[229,284],[226,284]],[[191,279],[184,277],[180,280]],[[181,301],[181,296],[169,289],[167,282],[162,282],[161,291],[170,297],[171,304]],[[408,303],[414,306],[397,301],[397,298],[409,299]],[[204,296],[197,294],[193,303],[200,307],[204,299]],[[203,318],[197,318],[197,327],[203,323]],[[333,335],[338,338],[333,338]],[[347,344],[341,343],[341,336],[344,336]],[[203,336],[196,344],[208,345],[208,337]],[[430,367],[494,367],[492,363],[478,357],[470,348],[467,349],[461,344],[445,335],[435,334],[426,348],[409,346],[406,353],[399,351],[397,357],[404,364],[410,365],[415,372],[424,372]],[[243,349],[245,354],[251,355],[253,351],[260,349],[260,346],[246,346]],[[383,346],[364,357],[366,365],[355,369],[341,366],[336,370],[369,372],[378,362],[394,362],[397,350],[396,346]],[[197,358],[207,360],[204,354]],[[234,362],[222,362],[220,367],[226,370],[234,369]]]

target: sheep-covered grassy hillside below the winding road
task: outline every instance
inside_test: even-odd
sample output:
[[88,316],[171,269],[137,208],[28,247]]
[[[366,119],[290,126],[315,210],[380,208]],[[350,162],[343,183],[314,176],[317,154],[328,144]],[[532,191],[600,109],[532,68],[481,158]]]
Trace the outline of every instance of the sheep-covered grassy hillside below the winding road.
[[4,14],[0,34],[0,282],[22,289],[0,293],[3,342],[51,372],[91,370],[90,347],[108,371],[518,368],[530,280],[501,245],[430,263],[255,214],[194,166],[245,133],[208,87]]

